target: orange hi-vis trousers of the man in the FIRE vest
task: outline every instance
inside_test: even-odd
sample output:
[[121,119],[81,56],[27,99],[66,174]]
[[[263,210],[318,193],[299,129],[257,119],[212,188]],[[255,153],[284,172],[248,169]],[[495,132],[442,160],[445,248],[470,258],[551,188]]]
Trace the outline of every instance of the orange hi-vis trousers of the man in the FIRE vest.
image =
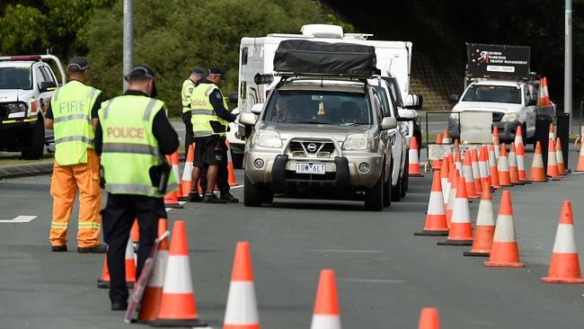
[[99,159],[93,149],[87,149],[87,164],[59,165],[55,162],[50,195],[53,196],[53,220],[50,224],[51,245],[66,245],[66,229],[79,189],[79,224],[77,245],[93,247],[100,244],[102,189]]

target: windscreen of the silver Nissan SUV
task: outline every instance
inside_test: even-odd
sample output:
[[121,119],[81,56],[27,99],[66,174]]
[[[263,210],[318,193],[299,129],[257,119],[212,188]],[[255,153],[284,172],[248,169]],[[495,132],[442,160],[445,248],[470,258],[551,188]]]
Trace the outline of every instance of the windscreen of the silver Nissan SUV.
[[263,120],[328,125],[370,125],[367,93],[278,91],[271,94]]

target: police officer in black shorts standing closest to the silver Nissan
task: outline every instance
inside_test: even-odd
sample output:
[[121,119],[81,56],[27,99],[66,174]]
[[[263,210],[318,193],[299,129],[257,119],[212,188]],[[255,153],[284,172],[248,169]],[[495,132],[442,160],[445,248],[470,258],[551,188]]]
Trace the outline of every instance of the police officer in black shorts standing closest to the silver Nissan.
[[[239,201],[229,192],[226,129],[229,122],[233,122],[237,117],[227,110],[226,100],[218,87],[223,81],[223,76],[221,69],[209,68],[206,79],[200,81],[192,94],[191,122],[197,147],[192,170],[193,190],[187,199],[191,202],[201,200],[196,189],[205,164],[208,165],[208,170],[207,182],[201,180],[201,185],[206,187],[202,201],[207,203]],[[213,192],[216,183],[221,194],[219,198]]]

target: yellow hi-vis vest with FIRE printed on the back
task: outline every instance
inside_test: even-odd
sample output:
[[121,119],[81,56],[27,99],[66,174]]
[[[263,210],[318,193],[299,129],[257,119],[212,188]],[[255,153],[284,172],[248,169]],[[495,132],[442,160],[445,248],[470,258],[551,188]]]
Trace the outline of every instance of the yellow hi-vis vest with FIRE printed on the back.
[[93,148],[92,109],[100,93],[75,80],[53,93],[50,107],[59,165],[87,163],[87,148]]

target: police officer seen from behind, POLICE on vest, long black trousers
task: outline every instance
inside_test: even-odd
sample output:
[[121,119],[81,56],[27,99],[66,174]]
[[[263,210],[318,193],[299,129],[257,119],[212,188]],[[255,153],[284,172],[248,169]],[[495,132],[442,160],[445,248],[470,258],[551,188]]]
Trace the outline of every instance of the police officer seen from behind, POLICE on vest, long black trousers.
[[[108,192],[102,217],[103,236],[109,245],[113,310],[128,307],[124,258],[134,218],[140,227],[139,277],[155,241],[158,218],[166,218],[164,194],[176,190],[164,155],[173,154],[179,147],[164,102],[155,98],[154,72],[148,67],[134,67],[125,78],[128,91],[102,103],[95,130],[95,148],[102,155],[102,183]],[[166,191],[164,182],[168,182]]]

